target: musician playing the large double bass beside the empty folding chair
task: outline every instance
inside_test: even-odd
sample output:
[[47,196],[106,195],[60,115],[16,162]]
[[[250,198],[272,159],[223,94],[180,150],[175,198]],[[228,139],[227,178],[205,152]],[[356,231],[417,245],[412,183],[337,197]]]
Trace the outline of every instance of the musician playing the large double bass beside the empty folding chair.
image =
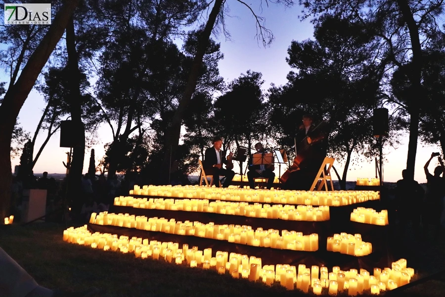
[[299,170],[290,173],[283,185],[285,190],[309,191],[326,156],[326,137],[321,129],[315,129],[312,116],[303,116],[303,125],[296,135]]

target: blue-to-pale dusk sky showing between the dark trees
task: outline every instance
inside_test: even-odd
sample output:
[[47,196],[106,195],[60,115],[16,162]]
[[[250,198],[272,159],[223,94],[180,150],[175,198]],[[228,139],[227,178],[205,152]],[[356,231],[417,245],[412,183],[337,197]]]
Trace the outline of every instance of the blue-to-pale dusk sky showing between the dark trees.
[[[292,69],[286,63],[287,49],[292,40],[303,41],[313,38],[313,27],[308,21],[301,22],[298,16],[301,15],[301,7],[295,6],[293,8],[285,9],[284,6],[277,6],[272,4],[267,7],[263,4],[263,13],[260,13],[259,6],[252,8],[266,18],[266,27],[270,29],[275,37],[275,40],[270,47],[266,49],[262,44],[255,39],[256,28],[255,19],[253,18],[249,9],[235,0],[227,1],[229,4],[231,17],[226,17],[227,29],[231,34],[231,41],[226,41],[223,34],[218,36],[218,41],[221,42],[221,51],[224,54],[224,59],[219,64],[221,76],[226,82],[233,80],[241,73],[246,73],[247,70],[261,72],[265,84],[264,90],[267,90],[271,83],[275,85],[283,85],[287,82],[286,75]],[[259,1],[248,1],[247,3],[257,3]],[[263,1],[264,2],[264,1]],[[213,37],[215,38],[215,37]],[[4,72],[0,76],[1,81],[7,81],[8,75]],[[323,86],[320,86],[322,88]],[[36,129],[36,126],[45,108],[43,97],[35,90],[31,92],[25,104],[23,105],[19,114],[19,123],[27,131],[31,132],[31,137]],[[286,116],[283,114],[283,116]],[[372,127],[369,127],[372,129]],[[45,140],[46,131],[41,132],[38,137],[35,153],[37,153],[40,145]],[[67,148],[59,148],[60,134],[56,133],[46,145],[42,155],[40,156],[34,173],[42,173],[43,171],[51,173],[65,173],[65,168],[62,161],[66,161]],[[98,130],[99,144],[95,145],[96,164],[104,155],[103,145],[112,140],[111,129],[108,125],[103,124]],[[401,170],[406,165],[407,155],[407,136],[401,139],[401,146],[398,148],[385,148],[384,152],[387,154],[387,162],[384,163],[384,181],[395,182],[401,178]],[[211,144],[209,144],[210,146]],[[431,152],[440,151],[438,146],[424,147],[419,143],[416,158],[415,179],[418,182],[426,182],[425,174],[423,172],[423,165],[428,160]],[[430,172],[438,165],[437,159],[434,159],[430,165]],[[12,168],[18,165],[19,158],[12,160]],[[87,172],[89,164],[89,150],[85,155],[84,172]],[[342,161],[336,161],[334,166],[343,171]],[[286,169],[281,167],[281,173]],[[236,167],[235,167],[236,170]],[[332,172],[334,175],[334,172]],[[278,175],[278,168],[276,169]],[[348,181],[354,181],[357,177],[375,177],[374,161],[363,161],[359,164],[354,164],[350,167],[348,172]]]

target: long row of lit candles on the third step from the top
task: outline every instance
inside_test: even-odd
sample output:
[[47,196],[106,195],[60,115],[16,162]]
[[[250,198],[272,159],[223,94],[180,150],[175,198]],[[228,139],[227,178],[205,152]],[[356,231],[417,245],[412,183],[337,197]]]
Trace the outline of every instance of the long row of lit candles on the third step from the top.
[[197,236],[224,240],[230,243],[249,245],[254,247],[271,247],[291,250],[318,250],[318,234],[303,235],[302,232],[257,228],[240,225],[215,225],[200,222],[176,222],[175,219],[147,218],[129,214],[114,214],[101,212],[92,213],[91,224],[113,225],[140,230],[151,230],[177,235]]

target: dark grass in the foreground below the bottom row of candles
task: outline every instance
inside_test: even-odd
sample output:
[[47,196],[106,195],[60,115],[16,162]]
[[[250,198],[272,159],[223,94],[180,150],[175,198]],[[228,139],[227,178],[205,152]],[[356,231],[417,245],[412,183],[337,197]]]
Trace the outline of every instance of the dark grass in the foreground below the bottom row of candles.
[[[298,290],[286,291],[278,284],[267,287],[185,264],[68,244],[62,241],[64,229],[65,225],[51,223],[1,225],[0,246],[41,286],[67,291],[96,287],[103,291],[97,295],[100,297],[308,296]],[[436,242],[426,241],[423,247],[418,276],[445,269],[445,236]],[[444,292],[445,282],[432,280],[405,290],[403,296],[442,297]]]

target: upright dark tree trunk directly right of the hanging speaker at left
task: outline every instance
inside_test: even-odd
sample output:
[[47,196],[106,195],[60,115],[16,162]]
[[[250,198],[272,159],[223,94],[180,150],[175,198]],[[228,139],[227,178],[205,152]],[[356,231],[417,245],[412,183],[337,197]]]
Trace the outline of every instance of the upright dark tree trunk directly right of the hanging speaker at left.
[[[68,53],[68,70],[70,79],[70,111],[71,120],[76,123],[79,129],[83,128],[82,106],[80,91],[79,58],[76,50],[76,34],[74,31],[74,17],[71,16],[66,28],[66,49]],[[71,161],[70,173],[68,175],[68,199],[73,203],[74,213],[80,213],[83,205],[81,193],[82,171],[84,169],[85,158],[85,130],[80,131],[81,143],[73,148],[73,159]],[[83,141],[82,141],[83,139]]]

